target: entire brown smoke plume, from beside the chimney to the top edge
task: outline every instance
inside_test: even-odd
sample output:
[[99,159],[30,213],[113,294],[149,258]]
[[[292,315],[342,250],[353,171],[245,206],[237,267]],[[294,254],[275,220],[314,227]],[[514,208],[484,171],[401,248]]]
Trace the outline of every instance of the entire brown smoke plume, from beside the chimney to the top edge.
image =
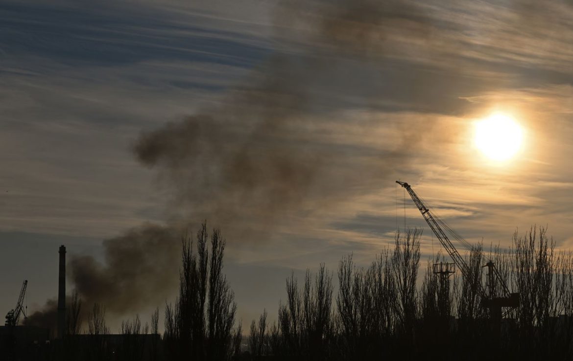
[[[419,70],[417,59],[396,60],[444,56],[425,14],[405,1],[278,6],[276,37],[288,51],[254,69],[224,105],[143,133],[134,144],[136,158],[174,191],[171,208],[185,220],[175,223],[208,219],[230,241],[252,240],[283,216],[332,207],[392,177],[431,124],[343,114],[462,109],[452,89],[435,92],[435,72]],[[377,146],[361,145],[339,130],[348,126],[354,135],[384,126],[395,132]],[[178,281],[181,229],[146,224],[106,240],[105,262],[72,257],[69,281],[85,305],[103,303],[116,314],[161,304]],[[30,320],[45,324],[55,303],[46,307]]]

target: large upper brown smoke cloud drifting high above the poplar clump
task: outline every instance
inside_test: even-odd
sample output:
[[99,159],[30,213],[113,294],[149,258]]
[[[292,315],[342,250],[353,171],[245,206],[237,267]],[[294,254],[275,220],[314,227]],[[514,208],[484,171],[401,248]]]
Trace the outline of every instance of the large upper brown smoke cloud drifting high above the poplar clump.
[[[296,39],[289,43],[294,55],[274,54],[230,90],[222,106],[143,133],[134,145],[138,160],[167,180],[163,184],[174,191],[180,217],[207,218],[234,237],[252,237],[254,229],[268,230],[285,216],[371,192],[407,164],[428,126],[423,118],[411,127],[388,122],[397,128],[395,137],[376,146],[345,140],[340,130],[367,133],[383,126],[383,120],[345,116],[344,110],[379,111],[381,102],[395,98],[356,78],[364,69],[387,71],[386,55],[405,47],[395,39],[397,29],[418,42],[429,37],[429,19],[417,6],[284,2],[277,22],[307,29],[277,33],[284,42]],[[417,80],[399,81],[404,86]],[[349,98],[355,104],[344,104]]]

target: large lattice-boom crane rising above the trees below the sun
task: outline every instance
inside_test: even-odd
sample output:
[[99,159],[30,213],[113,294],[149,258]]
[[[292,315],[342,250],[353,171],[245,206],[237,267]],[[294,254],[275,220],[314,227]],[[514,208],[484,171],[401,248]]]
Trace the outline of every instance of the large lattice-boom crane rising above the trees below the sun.
[[[424,217],[426,223],[430,226],[432,232],[434,232],[434,235],[438,238],[439,243],[441,243],[442,246],[446,249],[446,252],[448,252],[448,255],[450,255],[450,257],[454,261],[454,264],[456,264],[457,268],[460,269],[462,275],[464,275],[466,279],[471,279],[472,278],[470,276],[471,270],[468,264],[466,263],[464,258],[460,255],[460,252],[457,251],[456,247],[454,247],[452,241],[450,241],[448,235],[446,235],[446,233],[444,232],[444,228],[446,228],[448,231],[454,234],[455,232],[453,232],[453,230],[450,229],[448,225],[446,225],[443,221],[439,219],[437,221],[435,219],[434,215],[432,215],[432,213],[430,212],[430,209],[427,208],[427,206],[422,202],[422,200],[418,197],[416,192],[414,192],[414,189],[412,189],[412,187],[409,184],[401,181],[396,181],[396,183],[398,183],[404,189],[406,189],[411,199],[414,201],[414,204],[416,205],[420,213],[422,213],[422,217]],[[467,243],[465,242],[465,240],[461,239],[460,236],[456,235],[456,237],[458,240]],[[519,293],[509,292],[507,285],[504,283],[503,279],[501,279],[500,273],[497,271],[497,268],[495,267],[495,264],[493,263],[492,260],[489,260],[488,263],[486,263],[483,267],[488,267],[489,292],[488,293],[485,292],[484,288],[482,288],[481,286],[481,282],[478,285],[476,285],[476,287],[478,289],[478,293],[480,293],[481,296],[482,306],[487,307],[489,309],[489,314],[492,319],[499,320],[502,317],[502,312],[501,312],[502,307],[515,308],[519,306]],[[495,288],[494,284],[496,280],[497,283],[501,285],[503,296],[496,296],[495,294],[496,292],[494,289]]]

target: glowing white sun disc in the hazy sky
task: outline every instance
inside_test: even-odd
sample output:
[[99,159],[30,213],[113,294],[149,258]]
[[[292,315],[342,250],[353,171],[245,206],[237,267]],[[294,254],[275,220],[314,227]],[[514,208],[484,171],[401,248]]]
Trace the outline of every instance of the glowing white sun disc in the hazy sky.
[[504,114],[492,114],[476,124],[477,148],[494,161],[505,161],[521,149],[523,129]]

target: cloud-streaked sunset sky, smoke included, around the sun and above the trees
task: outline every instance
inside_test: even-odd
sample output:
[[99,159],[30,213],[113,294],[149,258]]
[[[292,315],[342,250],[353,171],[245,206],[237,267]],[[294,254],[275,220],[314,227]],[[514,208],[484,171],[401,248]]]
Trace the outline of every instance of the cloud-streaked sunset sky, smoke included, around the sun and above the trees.
[[[404,225],[437,252],[395,180],[470,243],[537,224],[573,246],[570,1],[6,0],[0,17],[0,310],[24,279],[30,311],[56,295],[65,244],[68,289],[89,273],[86,295],[145,318],[206,219],[248,324],[291,272],[368,264]],[[508,161],[474,144],[493,113],[523,129]]]

